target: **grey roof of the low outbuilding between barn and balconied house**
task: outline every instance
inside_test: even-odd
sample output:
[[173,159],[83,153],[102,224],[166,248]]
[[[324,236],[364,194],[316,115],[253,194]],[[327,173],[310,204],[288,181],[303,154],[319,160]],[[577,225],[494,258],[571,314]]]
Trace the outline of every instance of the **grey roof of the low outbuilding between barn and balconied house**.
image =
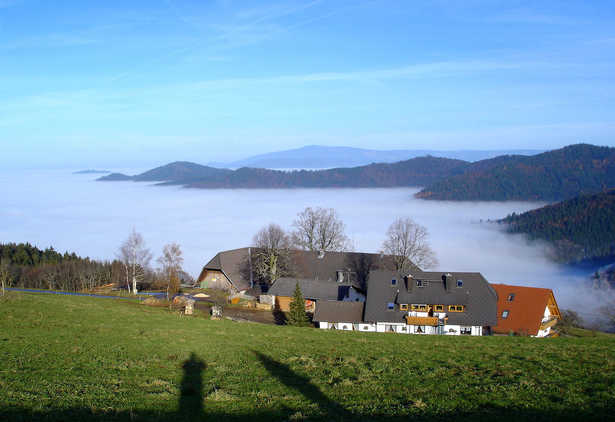
[[311,300],[343,300],[349,290],[360,290],[350,283],[279,277],[274,284],[271,285],[267,294],[293,297],[295,295],[295,285],[297,283],[299,283],[301,287],[301,294],[303,297]]

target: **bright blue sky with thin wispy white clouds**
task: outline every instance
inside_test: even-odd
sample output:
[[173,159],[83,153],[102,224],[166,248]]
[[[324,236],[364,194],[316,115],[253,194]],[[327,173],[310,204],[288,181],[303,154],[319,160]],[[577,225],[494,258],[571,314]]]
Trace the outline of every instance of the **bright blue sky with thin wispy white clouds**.
[[588,0],[0,0],[0,160],[615,146],[613,22]]

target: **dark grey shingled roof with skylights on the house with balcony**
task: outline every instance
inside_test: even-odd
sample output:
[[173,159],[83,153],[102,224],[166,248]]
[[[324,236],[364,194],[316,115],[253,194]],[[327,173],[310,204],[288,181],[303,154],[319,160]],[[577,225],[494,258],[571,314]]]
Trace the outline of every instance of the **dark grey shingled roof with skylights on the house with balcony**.
[[[409,275],[413,278],[408,278]],[[391,285],[391,279],[397,279],[397,285]],[[417,287],[418,279],[426,285]],[[462,287],[457,287],[458,280],[462,280]],[[480,273],[371,271],[365,304],[365,321],[406,322],[404,317],[407,311],[397,310],[399,309],[397,304],[414,303],[464,305],[466,308],[462,313],[446,312],[445,309],[448,324],[496,325],[497,301],[498,293]],[[395,310],[388,311],[387,303],[395,303]]]

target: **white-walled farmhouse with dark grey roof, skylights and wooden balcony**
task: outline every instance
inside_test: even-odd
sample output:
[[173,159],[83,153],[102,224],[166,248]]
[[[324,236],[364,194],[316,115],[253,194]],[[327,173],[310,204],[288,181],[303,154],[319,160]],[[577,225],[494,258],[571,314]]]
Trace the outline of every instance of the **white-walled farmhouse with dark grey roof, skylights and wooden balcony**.
[[[485,335],[497,321],[498,293],[480,273],[371,271],[361,331]],[[346,322],[349,314],[333,318],[327,305],[317,306],[314,320],[320,328]],[[353,324],[355,324],[353,322]],[[353,325],[353,328],[355,325]],[[356,329],[356,328],[355,328]]]

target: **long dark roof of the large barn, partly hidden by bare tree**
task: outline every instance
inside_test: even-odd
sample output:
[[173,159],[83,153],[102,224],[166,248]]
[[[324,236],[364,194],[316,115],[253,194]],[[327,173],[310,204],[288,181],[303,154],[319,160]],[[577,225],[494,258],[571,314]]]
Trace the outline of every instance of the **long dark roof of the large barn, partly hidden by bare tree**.
[[[216,253],[203,269],[223,271],[237,290],[250,288],[246,257],[248,248],[224,250]],[[319,256],[321,256],[319,258]],[[378,253],[364,252],[325,252],[314,250],[293,250],[293,263],[296,276],[306,280],[337,281],[338,271],[344,282],[354,283],[363,289],[371,269],[394,269],[390,257],[380,257]],[[201,272],[202,274],[202,272]],[[200,276],[199,276],[200,279]]]

